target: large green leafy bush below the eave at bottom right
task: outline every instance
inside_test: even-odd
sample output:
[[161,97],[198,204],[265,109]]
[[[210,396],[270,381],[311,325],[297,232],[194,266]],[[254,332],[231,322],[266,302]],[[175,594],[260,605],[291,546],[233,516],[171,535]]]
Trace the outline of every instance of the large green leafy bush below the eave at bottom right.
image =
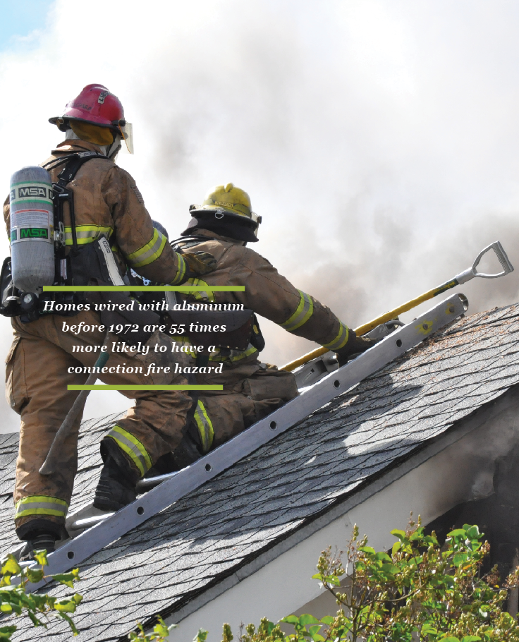
[[[334,617],[310,614],[262,619],[240,630],[239,642],[519,642],[515,618],[503,610],[519,586],[519,568],[501,582],[496,567],[483,575],[489,544],[477,526],[448,533],[441,546],[418,523],[397,538],[391,555],[359,539],[355,526],[345,552],[322,552],[314,578],[336,598]],[[280,624],[293,627],[286,635]],[[233,634],[224,624],[222,642]]]

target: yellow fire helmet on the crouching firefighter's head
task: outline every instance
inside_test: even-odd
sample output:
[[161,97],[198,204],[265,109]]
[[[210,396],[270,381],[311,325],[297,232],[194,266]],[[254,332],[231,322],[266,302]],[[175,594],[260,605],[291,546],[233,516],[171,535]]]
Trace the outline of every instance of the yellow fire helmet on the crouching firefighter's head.
[[188,236],[193,228],[209,229],[221,236],[231,236],[238,241],[257,241],[257,229],[262,217],[252,212],[247,192],[235,187],[233,183],[218,185],[207,193],[202,205],[191,205],[193,217],[183,236]]

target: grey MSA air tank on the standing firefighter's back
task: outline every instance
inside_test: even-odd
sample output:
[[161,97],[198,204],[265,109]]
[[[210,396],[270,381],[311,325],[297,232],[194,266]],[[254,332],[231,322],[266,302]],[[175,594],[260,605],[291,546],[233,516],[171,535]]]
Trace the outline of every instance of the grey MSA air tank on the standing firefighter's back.
[[24,292],[54,283],[54,210],[49,172],[23,167],[11,176],[11,271]]

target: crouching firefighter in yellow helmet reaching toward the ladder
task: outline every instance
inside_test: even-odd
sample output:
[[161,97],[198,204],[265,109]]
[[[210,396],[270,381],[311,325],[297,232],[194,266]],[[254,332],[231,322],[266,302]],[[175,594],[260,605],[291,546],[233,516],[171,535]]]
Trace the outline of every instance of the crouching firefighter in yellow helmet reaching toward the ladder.
[[[207,284],[207,291],[187,296],[191,303],[235,303],[246,310],[277,323],[291,334],[315,341],[337,353],[340,363],[360,353],[374,341],[356,337],[355,332],[319,303],[298,290],[281,276],[271,263],[247,247],[255,243],[261,223],[252,211],[248,193],[233,183],[217,186],[200,206],[191,205],[191,220],[173,248],[185,255],[203,250],[216,259],[216,269],[196,284]],[[193,279],[191,280],[193,281]],[[243,285],[243,292],[211,291],[211,286]],[[251,324],[250,340],[241,349],[222,335],[216,351],[209,354],[210,364],[222,364],[221,374],[204,373],[200,368],[198,384],[223,384],[223,392],[203,392],[197,400],[195,416],[181,445],[171,458],[159,462],[157,472],[181,468],[198,456],[267,416],[298,394],[292,373],[259,361],[264,341],[256,317]],[[190,342],[194,337],[177,341]],[[211,339],[214,341],[214,337]],[[195,363],[193,354],[193,364]],[[197,358],[200,363],[200,356]],[[202,374],[200,374],[200,372]]]

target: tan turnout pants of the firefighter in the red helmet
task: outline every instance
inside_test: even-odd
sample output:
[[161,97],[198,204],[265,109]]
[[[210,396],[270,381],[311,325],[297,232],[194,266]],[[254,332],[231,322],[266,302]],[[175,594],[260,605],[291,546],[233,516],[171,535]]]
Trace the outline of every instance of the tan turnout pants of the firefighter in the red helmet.
[[[78,392],[69,392],[70,384],[85,384],[88,373],[81,373],[82,365],[93,366],[99,351],[73,352],[73,346],[101,346],[105,333],[63,332],[62,324],[99,326],[99,315],[92,311],[75,317],[49,315],[23,324],[13,318],[14,340],[6,360],[6,398],[21,415],[20,450],[16,463],[16,532],[20,539],[30,538],[30,533],[49,522],[56,525],[56,533],[63,533],[68,505],[71,501],[74,476],[78,466],[78,431],[81,414],[75,420],[61,452],[61,464],[50,476],[39,474],[47,452],[63,419],[71,408]],[[111,343],[121,344],[122,339],[110,335]],[[154,346],[166,346],[156,352]],[[187,384],[183,375],[173,375],[171,359],[172,341],[165,334],[156,332],[147,341],[147,355],[111,352],[106,368],[111,373],[99,374],[106,384]],[[176,353],[181,365],[188,358]],[[170,373],[163,370],[146,376],[148,365],[170,366]],[[123,373],[123,368],[134,368],[133,373]],[[69,372],[71,370],[71,372]],[[75,372],[77,370],[77,372]],[[119,372],[117,373],[117,370]],[[139,372],[142,370],[142,372]],[[124,391],[135,405],[105,437],[113,440],[135,473],[140,478],[157,459],[174,449],[182,439],[186,415],[192,399],[180,391]],[[113,445],[113,444],[112,444]],[[48,530],[48,528],[47,528]]]

